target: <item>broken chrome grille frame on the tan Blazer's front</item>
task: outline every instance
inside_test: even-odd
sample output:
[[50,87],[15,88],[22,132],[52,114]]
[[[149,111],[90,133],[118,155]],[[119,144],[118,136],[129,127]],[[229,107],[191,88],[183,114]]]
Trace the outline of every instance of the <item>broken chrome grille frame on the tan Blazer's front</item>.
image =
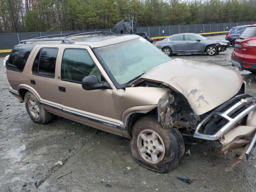
[[[240,95],[240,96],[242,96],[242,95]],[[236,98],[240,98],[240,96],[236,96]],[[218,112],[217,110],[213,111],[198,124],[198,126],[196,127],[196,131],[194,133],[194,137],[204,139],[204,140],[218,140],[225,133],[227,133],[231,128],[233,128],[236,125],[236,123],[238,123],[242,118],[244,118],[244,116],[246,116],[248,113],[250,113],[251,111],[256,109],[256,104],[254,102],[254,104],[252,104],[248,108],[244,109],[242,112],[237,114],[234,118],[230,118],[228,116],[234,110],[236,110],[237,108],[240,108],[240,106],[244,105],[245,102],[250,102],[252,100],[255,100],[255,98],[254,97],[250,97],[250,98],[246,98],[246,99],[241,98],[240,101],[236,102],[229,108],[226,108],[225,111],[223,111],[223,112]],[[226,103],[224,103],[223,106],[226,106]],[[222,108],[222,106],[220,106],[219,108]],[[218,132],[216,132],[216,134],[214,134],[214,135],[207,135],[207,134],[200,133],[199,130],[202,127],[202,125],[204,125],[204,123],[207,122],[208,119],[211,118],[214,114],[217,114],[218,116],[222,116],[223,118],[228,120],[228,123],[225,124],[222,128],[220,128],[220,130],[218,130]]]

